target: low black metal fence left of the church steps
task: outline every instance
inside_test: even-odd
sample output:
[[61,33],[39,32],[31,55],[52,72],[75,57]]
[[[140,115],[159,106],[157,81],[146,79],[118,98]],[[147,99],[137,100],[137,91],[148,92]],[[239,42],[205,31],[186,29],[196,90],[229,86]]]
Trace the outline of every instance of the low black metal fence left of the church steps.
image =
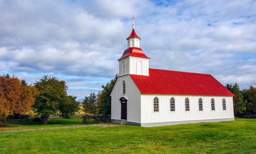
[[110,117],[108,116],[89,116],[85,115],[82,117],[83,124],[100,124],[110,122]]

